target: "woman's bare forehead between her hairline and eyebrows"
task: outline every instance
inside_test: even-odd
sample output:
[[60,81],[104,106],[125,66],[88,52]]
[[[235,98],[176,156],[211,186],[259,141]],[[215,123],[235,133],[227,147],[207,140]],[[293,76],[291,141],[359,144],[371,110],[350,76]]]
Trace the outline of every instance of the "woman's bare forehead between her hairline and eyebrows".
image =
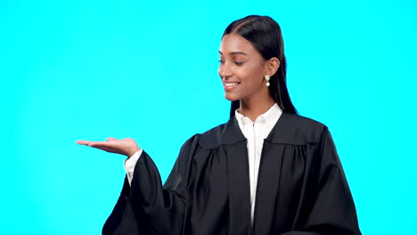
[[247,54],[258,53],[255,47],[245,38],[237,34],[223,36],[219,51],[223,54],[242,52]]

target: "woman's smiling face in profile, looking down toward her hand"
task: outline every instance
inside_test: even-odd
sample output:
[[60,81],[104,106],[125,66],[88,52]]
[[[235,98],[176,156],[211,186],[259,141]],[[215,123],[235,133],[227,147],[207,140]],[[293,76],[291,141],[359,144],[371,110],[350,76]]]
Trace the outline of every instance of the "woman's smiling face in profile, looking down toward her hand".
[[229,101],[256,98],[269,93],[265,76],[266,60],[245,38],[237,34],[223,36],[218,74]]

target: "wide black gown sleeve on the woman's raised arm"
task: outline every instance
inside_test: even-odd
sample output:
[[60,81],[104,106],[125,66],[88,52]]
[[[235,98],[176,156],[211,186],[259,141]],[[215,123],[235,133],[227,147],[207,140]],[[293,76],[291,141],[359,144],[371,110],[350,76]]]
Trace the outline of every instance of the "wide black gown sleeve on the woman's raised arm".
[[157,166],[143,151],[136,163],[131,185],[125,179],[102,234],[181,234],[189,167],[198,139],[199,135],[194,135],[184,143],[164,186]]

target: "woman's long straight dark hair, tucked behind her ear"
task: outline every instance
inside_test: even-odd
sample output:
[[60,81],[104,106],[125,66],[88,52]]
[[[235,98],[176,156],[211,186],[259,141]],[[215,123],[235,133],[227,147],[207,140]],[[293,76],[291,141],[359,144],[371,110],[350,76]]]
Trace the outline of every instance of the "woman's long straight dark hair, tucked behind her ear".
[[[235,33],[248,40],[258,52],[269,60],[276,57],[280,61],[280,68],[271,77],[269,83],[269,93],[278,106],[288,113],[298,114],[287,89],[286,82],[286,61],[283,50],[283,40],[280,25],[268,16],[249,15],[241,20],[233,21],[227,28],[223,36]],[[222,38],[223,38],[222,36]],[[234,111],[239,109],[240,102],[232,101],[230,117],[234,116]]]

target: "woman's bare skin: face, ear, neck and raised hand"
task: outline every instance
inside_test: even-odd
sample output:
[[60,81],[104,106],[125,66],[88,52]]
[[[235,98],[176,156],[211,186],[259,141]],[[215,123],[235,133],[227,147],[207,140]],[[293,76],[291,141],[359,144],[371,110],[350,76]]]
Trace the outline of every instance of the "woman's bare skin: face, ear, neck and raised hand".
[[[265,76],[272,77],[280,67],[280,61],[275,57],[265,60],[248,40],[234,33],[223,37],[219,54],[218,74],[225,87],[225,98],[240,100],[239,112],[255,121],[274,105]],[[109,137],[105,142],[78,140],[76,143],[127,157],[141,150],[132,138]]]

